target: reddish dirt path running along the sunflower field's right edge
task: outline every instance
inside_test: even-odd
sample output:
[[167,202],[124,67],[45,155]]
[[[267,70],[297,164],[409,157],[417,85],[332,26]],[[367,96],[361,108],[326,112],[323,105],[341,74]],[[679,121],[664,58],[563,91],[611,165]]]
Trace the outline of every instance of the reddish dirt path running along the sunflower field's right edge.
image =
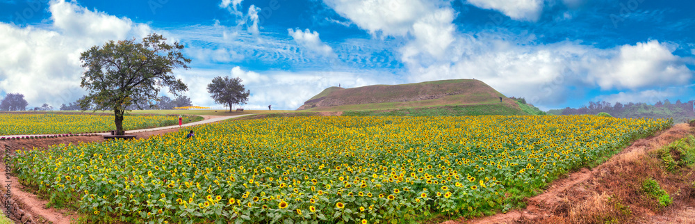
[[[598,190],[594,191],[594,189],[609,188],[597,185],[600,185],[600,178],[612,175],[612,170],[615,170],[616,166],[634,162],[646,154],[646,152],[660,149],[676,139],[687,136],[687,134],[693,134],[692,128],[687,124],[679,124],[655,136],[639,139],[607,162],[592,170],[582,168],[579,172],[571,173],[569,177],[555,180],[544,193],[528,198],[526,200],[528,206],[525,209],[471,220],[462,218],[457,221],[446,221],[444,223],[529,223],[528,221],[530,220],[552,220],[552,218],[548,217],[556,216],[557,211],[567,213],[569,212],[567,210],[573,204],[587,203],[587,200],[601,198],[603,195],[597,195]],[[650,214],[648,211],[636,215],[645,216],[646,223],[695,223],[695,208],[693,207],[676,209],[662,216],[654,216],[655,214]],[[550,223],[550,221],[547,223]]]

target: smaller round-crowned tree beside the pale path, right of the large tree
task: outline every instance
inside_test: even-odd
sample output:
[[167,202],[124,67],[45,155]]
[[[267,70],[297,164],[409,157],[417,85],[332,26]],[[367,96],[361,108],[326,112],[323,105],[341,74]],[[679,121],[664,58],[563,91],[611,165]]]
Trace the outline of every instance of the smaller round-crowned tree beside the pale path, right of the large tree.
[[229,79],[229,77],[216,77],[213,82],[208,84],[208,93],[212,94],[215,102],[222,105],[231,106],[234,104],[245,104],[249,100],[250,90],[246,90],[241,84],[241,78]]

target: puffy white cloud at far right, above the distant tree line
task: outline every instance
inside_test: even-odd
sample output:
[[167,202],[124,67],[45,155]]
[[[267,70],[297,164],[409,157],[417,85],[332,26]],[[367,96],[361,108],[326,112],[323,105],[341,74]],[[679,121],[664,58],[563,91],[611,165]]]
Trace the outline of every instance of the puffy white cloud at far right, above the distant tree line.
[[589,78],[604,90],[685,83],[693,72],[672,52],[657,40],[623,45],[614,58],[595,61]]

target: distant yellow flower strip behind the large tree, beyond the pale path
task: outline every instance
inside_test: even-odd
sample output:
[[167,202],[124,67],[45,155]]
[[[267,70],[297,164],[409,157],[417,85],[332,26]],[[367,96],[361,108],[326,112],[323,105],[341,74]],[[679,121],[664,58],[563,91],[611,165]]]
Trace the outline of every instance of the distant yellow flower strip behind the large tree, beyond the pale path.
[[[109,131],[116,129],[113,119],[113,115],[0,113],[0,136]],[[202,118],[191,116],[183,120],[199,121]],[[123,128],[126,130],[178,124],[179,117],[174,115],[125,115],[123,120]]]

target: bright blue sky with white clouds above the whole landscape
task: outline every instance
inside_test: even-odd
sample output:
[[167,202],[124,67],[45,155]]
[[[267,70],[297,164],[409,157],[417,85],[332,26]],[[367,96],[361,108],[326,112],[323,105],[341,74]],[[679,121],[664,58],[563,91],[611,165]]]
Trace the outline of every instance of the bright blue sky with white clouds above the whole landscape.
[[[693,99],[693,1],[0,0],[0,95],[84,94],[79,53],[161,33],[197,106],[241,77],[247,108],[296,109],[329,86],[480,79],[541,109]],[[168,93],[164,93],[168,95]]]

